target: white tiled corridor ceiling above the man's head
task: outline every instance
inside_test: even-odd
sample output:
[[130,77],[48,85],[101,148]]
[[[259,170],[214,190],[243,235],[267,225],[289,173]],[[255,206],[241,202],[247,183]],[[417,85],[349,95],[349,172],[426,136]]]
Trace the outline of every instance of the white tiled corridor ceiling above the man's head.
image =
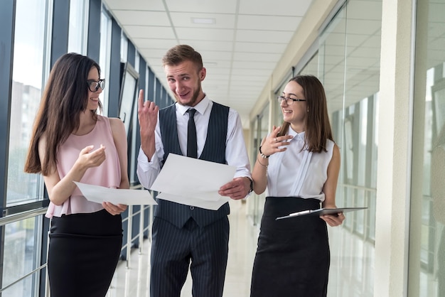
[[236,109],[245,127],[311,2],[104,0],[164,86],[163,55],[177,44],[193,46],[207,69],[204,92],[213,101]]

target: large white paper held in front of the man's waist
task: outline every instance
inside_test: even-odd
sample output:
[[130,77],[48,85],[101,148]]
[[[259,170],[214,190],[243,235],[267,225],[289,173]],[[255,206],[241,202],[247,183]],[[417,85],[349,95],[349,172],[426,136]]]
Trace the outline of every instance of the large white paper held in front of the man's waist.
[[218,210],[230,198],[218,194],[235,176],[235,166],[168,154],[166,163],[151,185],[157,198]]

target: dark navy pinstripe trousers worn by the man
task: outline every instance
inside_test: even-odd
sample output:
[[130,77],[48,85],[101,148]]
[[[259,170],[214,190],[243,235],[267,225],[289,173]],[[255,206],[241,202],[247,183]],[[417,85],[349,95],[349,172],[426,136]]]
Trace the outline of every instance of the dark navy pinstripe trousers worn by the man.
[[193,297],[223,296],[228,242],[227,217],[204,227],[190,219],[182,228],[155,217],[150,296],[181,296],[189,264]]

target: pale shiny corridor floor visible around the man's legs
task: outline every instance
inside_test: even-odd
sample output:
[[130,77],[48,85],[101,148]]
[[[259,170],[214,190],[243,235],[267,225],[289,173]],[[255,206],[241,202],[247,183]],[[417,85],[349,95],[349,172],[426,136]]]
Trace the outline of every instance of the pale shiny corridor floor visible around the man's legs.
[[[245,204],[230,201],[229,258],[225,276],[225,297],[247,297],[250,295],[250,276],[254,253],[257,248],[257,227],[248,222]],[[119,262],[112,286],[107,297],[149,297],[150,242],[144,241],[141,254],[134,251],[129,260]],[[191,297],[191,277],[181,292],[181,297]]]

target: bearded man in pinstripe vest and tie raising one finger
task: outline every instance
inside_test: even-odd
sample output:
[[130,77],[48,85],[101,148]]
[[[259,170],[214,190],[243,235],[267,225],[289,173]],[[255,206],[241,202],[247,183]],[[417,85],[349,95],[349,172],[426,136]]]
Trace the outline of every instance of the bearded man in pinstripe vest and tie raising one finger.
[[[162,63],[176,103],[159,110],[154,102],[144,102],[144,93],[139,92],[139,181],[150,188],[168,153],[176,153],[235,166],[235,177],[218,193],[234,200],[245,198],[252,191],[252,178],[239,114],[211,101],[203,92],[201,82],[206,70],[200,53],[191,46],[174,46]],[[188,144],[188,134],[192,133],[189,117],[195,121],[195,148]],[[189,265],[194,297],[223,296],[229,203],[218,210],[207,210],[161,199],[157,202],[152,227],[150,296],[181,296]]]

